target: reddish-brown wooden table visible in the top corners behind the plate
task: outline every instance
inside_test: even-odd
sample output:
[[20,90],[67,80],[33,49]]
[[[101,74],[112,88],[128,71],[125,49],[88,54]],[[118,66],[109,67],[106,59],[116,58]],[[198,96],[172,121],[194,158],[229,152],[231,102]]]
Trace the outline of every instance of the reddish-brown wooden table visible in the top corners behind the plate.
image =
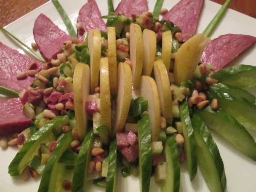
[[[6,26],[49,0],[0,0],[0,25]],[[225,0],[212,0],[223,4]],[[228,6],[256,18],[256,0],[232,0]]]

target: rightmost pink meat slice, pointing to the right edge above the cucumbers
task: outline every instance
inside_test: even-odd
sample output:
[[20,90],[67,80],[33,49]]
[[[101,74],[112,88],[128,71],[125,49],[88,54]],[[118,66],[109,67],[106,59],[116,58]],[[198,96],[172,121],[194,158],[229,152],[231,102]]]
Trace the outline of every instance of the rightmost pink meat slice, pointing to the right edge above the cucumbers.
[[241,34],[226,34],[212,40],[201,56],[202,64],[211,64],[217,71],[256,42],[256,37]]

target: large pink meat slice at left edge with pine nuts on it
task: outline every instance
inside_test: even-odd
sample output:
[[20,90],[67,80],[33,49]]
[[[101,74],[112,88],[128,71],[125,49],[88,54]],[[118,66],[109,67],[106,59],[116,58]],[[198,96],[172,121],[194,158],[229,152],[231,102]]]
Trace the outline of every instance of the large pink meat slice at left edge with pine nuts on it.
[[32,85],[35,80],[34,76],[27,75],[22,79],[16,78],[18,73],[28,70],[28,65],[31,62],[36,62],[37,67],[34,69],[37,71],[42,69],[43,63],[20,54],[17,50],[0,42],[0,86],[20,92]]

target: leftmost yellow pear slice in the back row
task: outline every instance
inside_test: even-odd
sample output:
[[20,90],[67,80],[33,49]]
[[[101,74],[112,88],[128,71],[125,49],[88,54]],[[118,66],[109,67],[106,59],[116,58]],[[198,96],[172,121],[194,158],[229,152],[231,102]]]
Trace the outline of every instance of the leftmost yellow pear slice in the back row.
[[88,49],[90,53],[90,74],[91,86],[90,92],[94,93],[99,83],[99,69],[101,56],[101,34],[100,30],[92,29],[88,33]]

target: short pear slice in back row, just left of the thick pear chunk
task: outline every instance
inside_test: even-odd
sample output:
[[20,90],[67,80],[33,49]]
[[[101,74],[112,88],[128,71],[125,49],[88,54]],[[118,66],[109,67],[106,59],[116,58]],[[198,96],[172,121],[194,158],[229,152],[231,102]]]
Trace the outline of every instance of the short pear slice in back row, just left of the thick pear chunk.
[[165,31],[162,34],[162,60],[166,66],[167,72],[170,70],[170,63],[172,57],[172,32]]

